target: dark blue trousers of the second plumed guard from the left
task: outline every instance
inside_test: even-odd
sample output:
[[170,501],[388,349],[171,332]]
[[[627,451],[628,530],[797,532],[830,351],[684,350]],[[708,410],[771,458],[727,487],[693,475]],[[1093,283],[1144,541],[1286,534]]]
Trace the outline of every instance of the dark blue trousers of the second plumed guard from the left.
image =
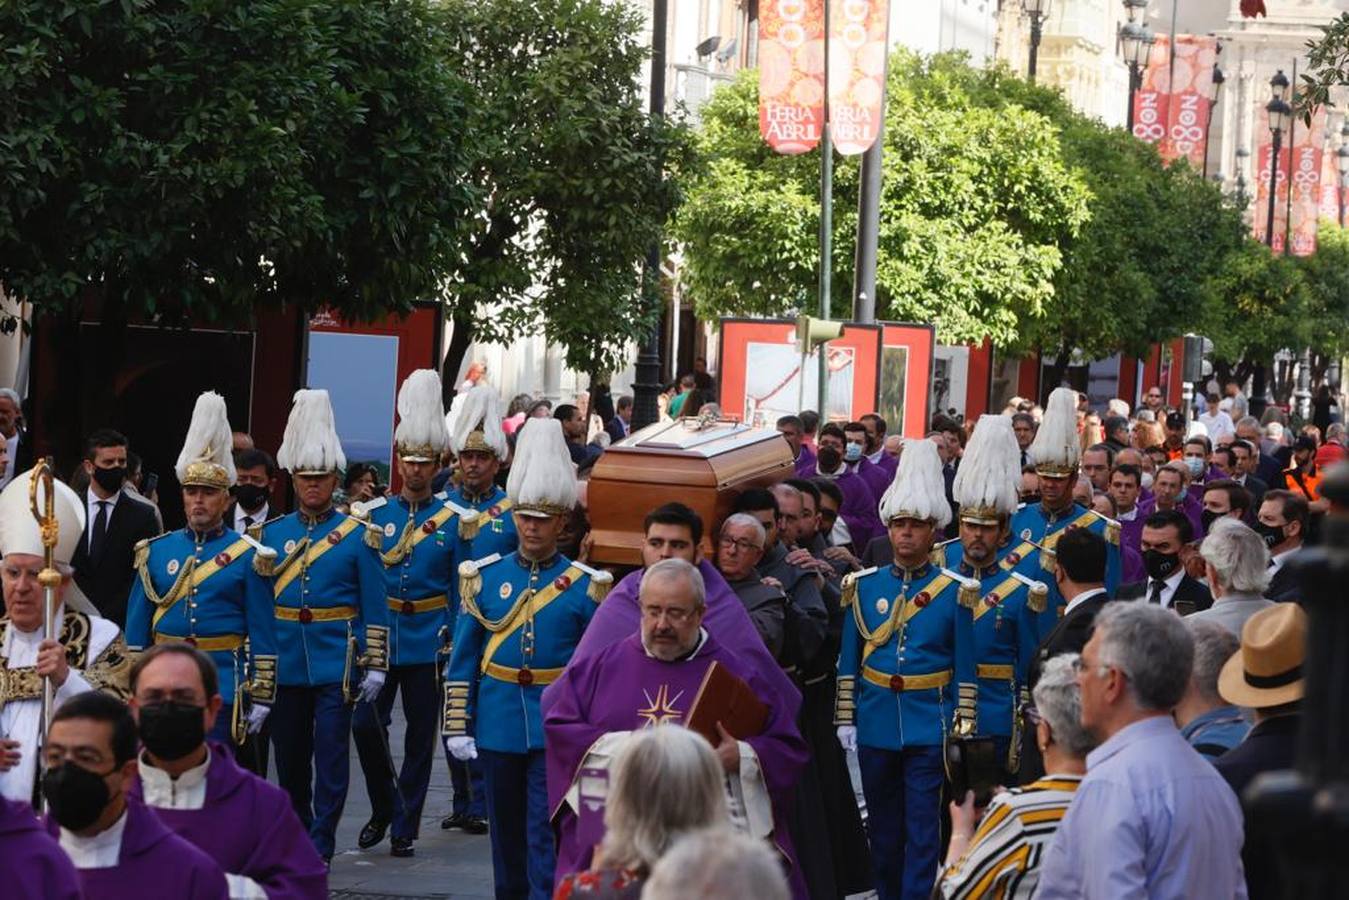
[[351,772],[351,707],[341,685],[278,687],[267,718],[275,719],[277,780],[318,855],[331,858]]

